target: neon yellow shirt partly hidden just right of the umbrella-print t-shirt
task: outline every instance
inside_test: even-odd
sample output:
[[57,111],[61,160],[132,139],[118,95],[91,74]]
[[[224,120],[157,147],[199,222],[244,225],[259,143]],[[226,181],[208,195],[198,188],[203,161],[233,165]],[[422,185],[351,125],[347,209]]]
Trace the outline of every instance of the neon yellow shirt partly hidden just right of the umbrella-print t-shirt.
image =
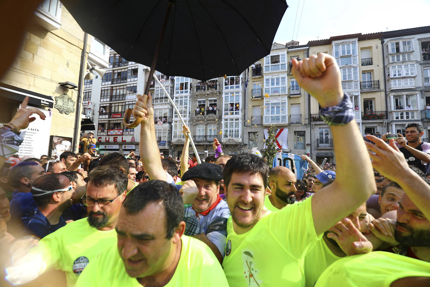
[[306,287],[313,287],[326,268],[342,257],[336,256],[330,251],[323,238],[316,241],[309,247],[304,256],[304,277]]

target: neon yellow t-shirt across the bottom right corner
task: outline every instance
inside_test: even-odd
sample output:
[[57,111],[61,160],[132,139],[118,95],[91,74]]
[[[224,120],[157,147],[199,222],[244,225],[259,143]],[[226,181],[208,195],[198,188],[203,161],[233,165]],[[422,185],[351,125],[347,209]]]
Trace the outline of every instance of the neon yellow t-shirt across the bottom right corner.
[[315,287],[389,287],[405,277],[430,277],[430,263],[374,251],[334,262],[321,274]]

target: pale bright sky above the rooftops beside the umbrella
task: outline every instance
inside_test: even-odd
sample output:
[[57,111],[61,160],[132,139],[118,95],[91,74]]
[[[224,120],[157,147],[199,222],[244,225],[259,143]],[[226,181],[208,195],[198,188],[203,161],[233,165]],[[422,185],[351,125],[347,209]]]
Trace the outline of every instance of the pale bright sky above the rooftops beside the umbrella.
[[287,3],[289,7],[274,39],[280,44],[298,40],[299,45],[304,45],[331,36],[430,26],[430,0],[287,0]]

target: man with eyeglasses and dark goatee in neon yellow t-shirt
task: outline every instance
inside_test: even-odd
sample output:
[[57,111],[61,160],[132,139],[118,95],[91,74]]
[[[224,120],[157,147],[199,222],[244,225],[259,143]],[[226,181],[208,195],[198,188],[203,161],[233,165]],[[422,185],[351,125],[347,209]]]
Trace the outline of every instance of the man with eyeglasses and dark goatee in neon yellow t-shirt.
[[[15,262],[18,263],[8,268],[7,280],[23,284],[45,271],[56,269],[65,272],[67,286],[74,286],[86,265],[106,247],[117,242],[114,228],[126,197],[127,182],[126,173],[117,167],[93,169],[88,176],[86,194],[82,197],[88,217],[68,223],[40,240],[39,246],[27,252],[32,256],[29,254],[17,259]],[[30,260],[35,268],[24,270]],[[19,265],[19,262],[23,264]],[[52,283],[58,285],[58,282]]]

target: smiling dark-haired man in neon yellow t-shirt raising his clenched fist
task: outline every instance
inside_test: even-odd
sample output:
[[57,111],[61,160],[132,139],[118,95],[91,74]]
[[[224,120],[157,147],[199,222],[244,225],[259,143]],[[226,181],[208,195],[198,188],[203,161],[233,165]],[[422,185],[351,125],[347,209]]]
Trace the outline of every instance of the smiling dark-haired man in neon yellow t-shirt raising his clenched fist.
[[270,213],[263,209],[269,174],[264,160],[240,154],[227,162],[223,174],[231,217],[222,265],[230,286],[304,286],[304,256],[310,245],[376,191],[371,162],[349,96],[342,91],[335,59],[323,53],[303,62],[293,59],[292,73],[322,106],[321,114],[333,134],[338,173],[332,184],[307,200]]

